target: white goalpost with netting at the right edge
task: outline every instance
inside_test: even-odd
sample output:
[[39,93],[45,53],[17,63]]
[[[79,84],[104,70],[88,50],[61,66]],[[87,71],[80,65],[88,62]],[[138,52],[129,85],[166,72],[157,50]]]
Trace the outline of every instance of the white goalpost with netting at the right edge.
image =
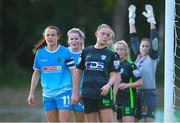
[[180,121],[180,0],[166,0],[164,121]]

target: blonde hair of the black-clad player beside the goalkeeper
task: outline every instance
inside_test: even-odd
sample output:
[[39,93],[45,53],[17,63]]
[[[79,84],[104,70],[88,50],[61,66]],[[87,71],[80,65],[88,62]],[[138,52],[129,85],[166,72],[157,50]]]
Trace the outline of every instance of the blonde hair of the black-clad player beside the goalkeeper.
[[118,46],[119,44],[124,45],[124,47],[125,47],[125,49],[126,49],[126,52],[127,52],[126,58],[127,58],[127,59],[131,59],[129,47],[128,47],[128,44],[126,43],[126,41],[124,41],[124,40],[117,41],[117,42],[113,45],[114,48],[115,48],[115,50],[117,49],[117,46]]

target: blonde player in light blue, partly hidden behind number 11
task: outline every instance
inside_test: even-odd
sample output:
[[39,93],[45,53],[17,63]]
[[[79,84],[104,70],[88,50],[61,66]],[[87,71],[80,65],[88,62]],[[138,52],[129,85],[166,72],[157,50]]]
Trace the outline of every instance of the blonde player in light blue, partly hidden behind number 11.
[[[80,57],[81,51],[84,48],[85,35],[79,28],[72,28],[68,31],[68,45],[69,51],[71,52],[71,57],[74,58],[75,64],[78,64],[78,59]],[[80,93],[82,91],[82,79],[80,81]],[[74,114],[74,122],[84,122],[84,105],[80,102],[72,106],[72,111]]]

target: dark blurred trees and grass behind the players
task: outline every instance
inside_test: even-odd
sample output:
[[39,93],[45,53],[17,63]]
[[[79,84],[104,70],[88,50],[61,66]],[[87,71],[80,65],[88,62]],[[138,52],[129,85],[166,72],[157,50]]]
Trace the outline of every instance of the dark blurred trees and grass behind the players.
[[[48,25],[58,26],[60,43],[67,46],[67,31],[78,27],[86,35],[85,46],[95,44],[98,25],[106,23],[115,32],[115,41],[130,41],[128,6],[137,7],[138,37],[149,37],[149,24],[142,15],[145,4],[154,6],[159,37],[160,63],[157,70],[158,108],[163,107],[164,86],[164,0],[1,0],[0,1],[0,121],[44,121],[41,86],[37,105],[27,105],[34,55]],[[135,56],[131,53],[132,58]],[[36,115],[37,114],[37,115]],[[11,116],[11,118],[9,118]],[[159,121],[162,120],[159,114]]]

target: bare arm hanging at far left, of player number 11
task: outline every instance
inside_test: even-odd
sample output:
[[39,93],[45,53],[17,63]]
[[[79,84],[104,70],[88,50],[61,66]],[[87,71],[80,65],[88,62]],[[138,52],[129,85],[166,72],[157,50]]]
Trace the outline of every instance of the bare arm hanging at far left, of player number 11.
[[32,78],[31,78],[31,87],[30,87],[29,96],[28,96],[29,105],[35,105],[35,89],[39,82],[39,78],[40,78],[40,71],[34,70]]

